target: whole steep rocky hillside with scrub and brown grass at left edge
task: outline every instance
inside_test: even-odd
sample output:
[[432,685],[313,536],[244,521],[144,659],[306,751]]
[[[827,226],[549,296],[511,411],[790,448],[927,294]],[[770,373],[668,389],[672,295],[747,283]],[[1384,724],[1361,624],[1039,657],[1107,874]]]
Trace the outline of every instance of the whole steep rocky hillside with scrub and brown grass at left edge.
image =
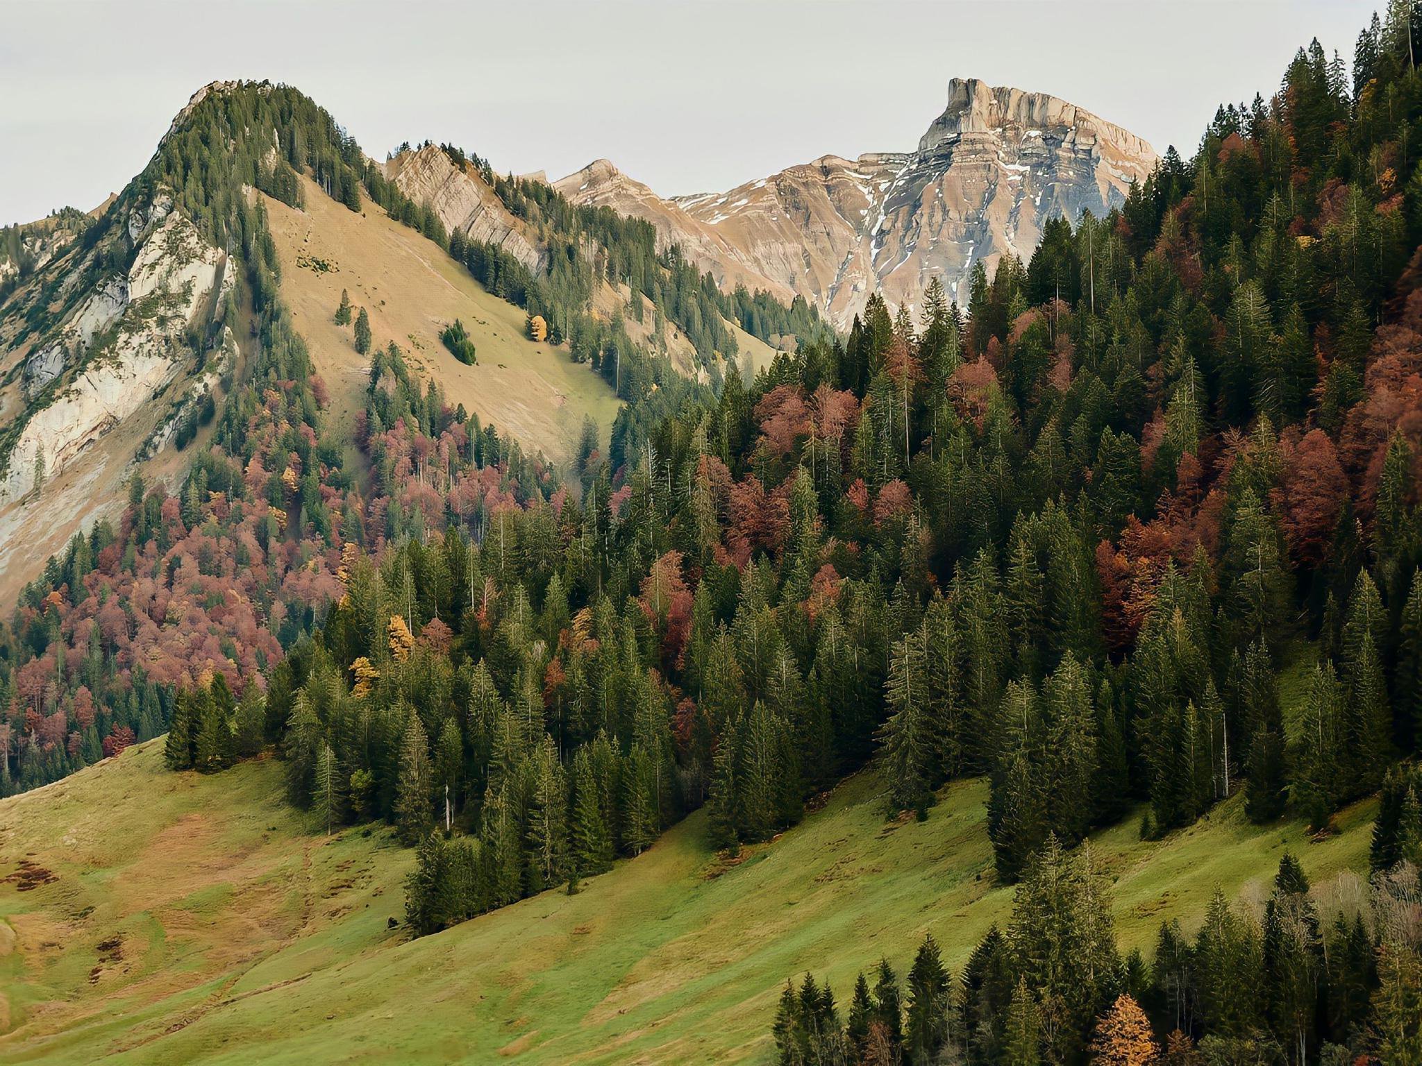
[[98,243],[46,244],[0,311],[0,603],[112,513],[134,469],[173,472],[166,446],[242,360],[228,252],[162,189],[115,210]]

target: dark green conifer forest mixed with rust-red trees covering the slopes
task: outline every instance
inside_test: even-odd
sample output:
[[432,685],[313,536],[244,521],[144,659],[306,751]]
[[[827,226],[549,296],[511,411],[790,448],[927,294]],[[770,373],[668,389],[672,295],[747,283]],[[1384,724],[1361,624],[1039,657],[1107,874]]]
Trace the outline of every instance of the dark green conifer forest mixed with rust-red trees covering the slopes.
[[[929,937],[853,988],[786,975],[779,1062],[1422,1063],[1418,58],[1399,0],[1351,67],[1313,43],[1121,209],[978,263],[967,306],[875,296],[845,335],[447,149],[546,240],[530,271],[293,90],[205,99],[125,195],[173,189],[235,249],[256,357],[181,492],[135,479],[0,630],[0,789],[165,731],[173,770],[274,753],[313,831],[415,850],[425,935],[577,891],[693,810],[734,856],[859,770],[889,820],[985,777],[1010,922],[960,972]],[[343,448],[243,192],[296,203],[299,175],[542,317],[626,401],[610,446],[526,453],[367,320]],[[600,281],[727,372],[594,318]],[[731,323],[801,343],[748,378]],[[476,361],[464,323],[445,344]],[[1367,898],[1325,911],[1285,854],[1258,914],[1217,894],[1123,954],[1089,834],[1231,796],[1317,834],[1378,796]]]

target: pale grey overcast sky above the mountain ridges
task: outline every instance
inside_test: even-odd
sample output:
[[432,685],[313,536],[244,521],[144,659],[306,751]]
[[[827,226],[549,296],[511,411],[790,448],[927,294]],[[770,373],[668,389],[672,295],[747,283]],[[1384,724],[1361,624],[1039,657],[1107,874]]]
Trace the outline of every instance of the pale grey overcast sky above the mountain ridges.
[[913,148],[948,78],[1193,148],[1382,0],[0,0],[0,222],[91,208],[218,78],[290,82],[375,158],[449,141],[550,178],[606,156],[663,195]]

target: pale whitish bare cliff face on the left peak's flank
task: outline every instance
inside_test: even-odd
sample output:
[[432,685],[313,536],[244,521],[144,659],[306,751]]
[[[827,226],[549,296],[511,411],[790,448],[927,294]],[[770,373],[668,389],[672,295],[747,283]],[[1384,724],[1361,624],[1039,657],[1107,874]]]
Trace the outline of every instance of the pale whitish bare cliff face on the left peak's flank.
[[26,362],[30,395],[57,378],[58,392],[28,412],[0,478],[0,503],[60,473],[176,379],[189,355],[185,331],[232,283],[226,254],[166,196],[134,212],[129,233],[142,243],[128,274],[101,281]]

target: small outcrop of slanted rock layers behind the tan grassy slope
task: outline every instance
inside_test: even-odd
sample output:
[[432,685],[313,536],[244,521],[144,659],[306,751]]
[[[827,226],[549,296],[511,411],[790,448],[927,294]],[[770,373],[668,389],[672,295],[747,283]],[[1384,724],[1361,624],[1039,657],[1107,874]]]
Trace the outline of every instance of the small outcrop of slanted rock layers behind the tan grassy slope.
[[385,163],[385,176],[415,203],[428,203],[449,233],[498,244],[529,270],[538,270],[539,252],[523,235],[522,223],[472,165],[455,166],[442,148],[425,145]]

